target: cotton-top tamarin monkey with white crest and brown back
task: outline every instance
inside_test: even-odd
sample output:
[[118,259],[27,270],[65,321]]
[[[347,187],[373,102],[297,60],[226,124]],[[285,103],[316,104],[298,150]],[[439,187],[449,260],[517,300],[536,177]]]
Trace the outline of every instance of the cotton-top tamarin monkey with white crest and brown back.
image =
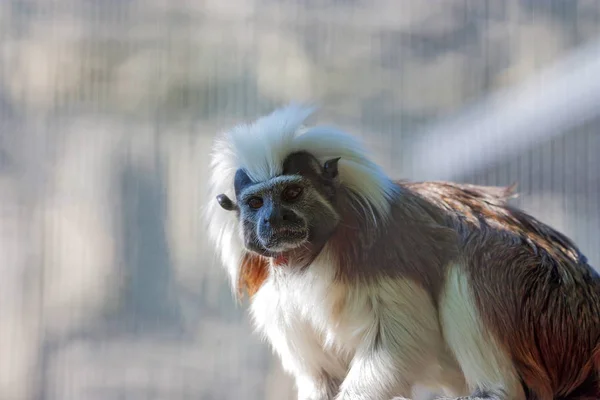
[[217,135],[206,203],[298,399],[600,398],[600,277],[572,240],[514,186],[390,178],[314,110]]

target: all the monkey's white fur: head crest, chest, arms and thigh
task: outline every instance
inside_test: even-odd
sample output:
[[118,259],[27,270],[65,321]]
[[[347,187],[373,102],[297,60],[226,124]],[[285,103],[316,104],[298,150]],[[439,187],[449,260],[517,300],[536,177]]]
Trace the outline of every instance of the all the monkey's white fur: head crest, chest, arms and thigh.
[[[215,142],[206,216],[210,238],[234,286],[245,250],[235,213],[222,210],[214,198],[220,193],[234,198],[233,177],[240,167],[253,180],[268,182],[281,173],[291,152],[305,150],[321,162],[341,156],[342,184],[374,220],[389,216],[395,194],[391,180],[351,136],[304,127],[311,112],[300,106],[279,109]],[[465,395],[461,368],[471,388],[502,389],[514,395],[509,398],[520,399],[514,369],[484,334],[458,268],[450,269],[436,307],[423,288],[407,279],[342,286],[334,280],[333,257],[326,246],[302,273],[271,268],[252,298],[256,328],[295,376],[300,400],[408,397],[419,382]]]

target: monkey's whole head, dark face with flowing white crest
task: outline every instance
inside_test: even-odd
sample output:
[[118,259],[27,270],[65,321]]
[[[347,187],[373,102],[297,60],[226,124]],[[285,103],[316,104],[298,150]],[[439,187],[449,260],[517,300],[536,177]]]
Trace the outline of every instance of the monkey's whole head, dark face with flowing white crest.
[[308,265],[344,223],[349,197],[361,219],[390,213],[397,186],[356,138],[306,127],[312,111],[283,107],[215,140],[206,217],[234,285],[256,257]]

